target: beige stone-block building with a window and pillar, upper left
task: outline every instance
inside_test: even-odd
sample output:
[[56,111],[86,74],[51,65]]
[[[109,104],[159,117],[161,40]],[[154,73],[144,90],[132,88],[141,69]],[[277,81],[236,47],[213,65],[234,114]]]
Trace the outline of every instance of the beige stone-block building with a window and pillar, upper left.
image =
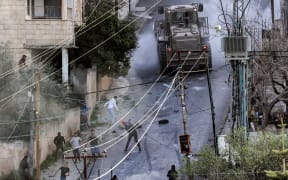
[[82,0],[0,1],[0,48],[15,65],[23,55],[27,56],[28,65],[58,55],[64,65],[62,81],[67,83],[69,49],[75,47],[74,26],[82,22],[82,3]]

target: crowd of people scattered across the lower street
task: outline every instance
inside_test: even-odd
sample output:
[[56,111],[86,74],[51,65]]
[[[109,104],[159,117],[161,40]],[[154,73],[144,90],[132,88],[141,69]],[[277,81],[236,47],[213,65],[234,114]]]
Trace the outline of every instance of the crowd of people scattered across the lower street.
[[[111,98],[109,101],[107,101],[104,104],[104,107],[107,107],[107,110],[111,116],[111,121],[110,123],[114,123],[115,121],[115,110],[118,111],[118,106],[117,106],[117,96],[114,96]],[[130,144],[131,139],[133,138],[135,143],[138,146],[139,152],[141,152],[141,145],[138,140],[138,132],[137,128],[139,128],[138,124],[133,124],[131,120],[128,120],[127,122],[125,120],[121,121],[122,127],[127,131],[128,133],[128,138],[127,142],[125,145],[124,151],[128,151],[128,147]],[[96,130],[94,128],[90,129],[90,135],[87,139],[90,145],[90,150],[91,150],[91,155],[96,156],[101,155],[101,150],[98,147],[98,145],[101,143],[101,138],[97,137]],[[82,139],[79,137],[79,133],[76,132],[74,133],[73,137],[70,139],[70,144],[72,145],[72,152],[73,152],[73,161],[74,163],[77,163],[81,161],[81,142]],[[55,149],[55,155],[56,158],[59,158],[59,154],[61,153],[61,156],[63,157],[63,153],[65,152],[65,145],[66,145],[66,140],[64,136],[61,134],[61,132],[57,133],[57,136],[55,136],[53,143],[56,147]],[[86,147],[86,146],[85,146]],[[21,180],[30,180],[31,175],[29,174],[29,164],[28,164],[28,156],[24,156],[24,158],[21,160],[20,165],[19,165],[19,176]],[[66,178],[69,176],[70,169],[69,169],[69,163],[68,161],[64,160],[63,165],[57,169],[57,171],[54,173],[53,177],[56,176],[56,174],[60,171],[60,180],[66,180]],[[167,177],[169,180],[176,180],[178,178],[178,172],[176,171],[175,165],[171,166],[171,169],[167,173]],[[117,175],[113,175],[111,177],[111,180],[119,180]]]

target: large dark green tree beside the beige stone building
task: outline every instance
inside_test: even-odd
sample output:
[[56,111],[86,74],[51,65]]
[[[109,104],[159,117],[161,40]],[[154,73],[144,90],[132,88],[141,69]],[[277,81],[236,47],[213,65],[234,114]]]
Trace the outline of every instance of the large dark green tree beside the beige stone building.
[[[91,14],[95,7],[94,2],[90,0],[86,3],[86,15]],[[79,47],[78,56],[89,51],[78,63],[86,67],[96,65],[101,75],[117,77],[128,73],[131,52],[136,48],[137,38],[135,25],[128,25],[129,20],[119,21],[117,16],[112,14],[113,6],[110,1],[102,1],[90,18],[86,17],[85,24],[93,28],[79,36],[76,43]],[[110,12],[107,13],[108,11]],[[76,32],[79,28],[76,28]],[[110,39],[107,41],[107,38]],[[93,50],[90,52],[91,49]]]

